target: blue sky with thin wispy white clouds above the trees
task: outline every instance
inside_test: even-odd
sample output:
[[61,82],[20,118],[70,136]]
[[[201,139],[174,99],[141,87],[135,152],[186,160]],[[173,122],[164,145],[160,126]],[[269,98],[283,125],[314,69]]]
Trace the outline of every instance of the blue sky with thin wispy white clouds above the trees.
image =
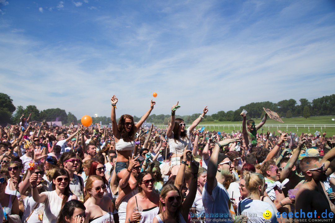
[[0,0],[1,91],[80,118],[334,94],[335,2]]

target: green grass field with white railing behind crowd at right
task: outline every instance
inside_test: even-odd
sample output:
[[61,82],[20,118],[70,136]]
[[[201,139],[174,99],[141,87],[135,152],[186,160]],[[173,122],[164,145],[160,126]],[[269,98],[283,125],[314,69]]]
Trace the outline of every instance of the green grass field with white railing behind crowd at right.
[[[332,118],[335,118],[335,116],[321,116],[321,117],[311,117],[311,118],[303,118],[303,117],[299,117],[299,118],[282,118],[284,124],[335,124],[335,121],[332,121]],[[254,119],[255,122],[256,122],[256,125],[261,121],[261,119]],[[242,121],[241,122],[219,122],[219,121],[213,121],[213,122],[201,122],[199,124],[199,126],[206,126],[206,124],[242,124]],[[281,122],[277,122],[275,120],[272,120],[270,118],[267,119],[266,123],[267,125],[278,125],[278,124],[282,124]],[[216,130],[216,131],[224,131],[224,132],[231,132],[232,130],[241,130],[242,131],[242,127],[235,127],[236,129],[233,129],[232,127],[228,128],[228,127],[215,127],[215,129],[213,129],[213,127],[209,130]],[[264,127],[263,128],[263,132],[266,132],[266,131],[270,131],[270,132],[273,132],[273,131],[276,131],[277,130],[277,127]],[[283,131],[286,131],[286,127],[282,127],[281,130]],[[304,133],[312,133],[314,134],[316,131],[319,131],[319,132],[324,132],[324,131],[327,131],[327,135],[328,137],[330,136],[333,136],[335,135],[335,126],[334,127],[327,127],[326,129],[324,127],[322,127],[322,130],[320,127],[310,127],[310,129],[308,128],[300,128],[298,127],[298,130],[297,128],[295,127],[288,127],[287,131],[288,132],[294,132],[294,133],[298,133],[298,134],[301,134],[302,132]],[[260,130],[258,130],[259,133],[261,133]]]

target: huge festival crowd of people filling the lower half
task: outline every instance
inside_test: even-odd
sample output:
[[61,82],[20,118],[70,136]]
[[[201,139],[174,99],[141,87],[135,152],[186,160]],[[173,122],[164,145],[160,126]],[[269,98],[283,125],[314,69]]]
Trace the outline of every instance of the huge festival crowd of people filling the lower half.
[[333,222],[335,136],[258,133],[267,115],[245,113],[242,131],[208,131],[207,106],[187,124],[178,102],[148,128],[154,101],[137,123],[117,102],[111,127],[0,128],[0,223]]

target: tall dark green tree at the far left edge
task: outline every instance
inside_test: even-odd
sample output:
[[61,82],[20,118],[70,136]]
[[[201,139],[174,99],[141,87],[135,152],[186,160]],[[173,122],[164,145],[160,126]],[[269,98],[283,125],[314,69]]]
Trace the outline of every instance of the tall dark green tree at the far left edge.
[[6,126],[12,122],[12,114],[16,108],[13,100],[4,93],[0,93],[0,105],[0,125]]

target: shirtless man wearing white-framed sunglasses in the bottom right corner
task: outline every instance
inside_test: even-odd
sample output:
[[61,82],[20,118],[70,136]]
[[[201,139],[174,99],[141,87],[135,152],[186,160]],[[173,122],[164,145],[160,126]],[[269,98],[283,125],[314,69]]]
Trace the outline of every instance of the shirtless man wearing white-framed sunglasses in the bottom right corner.
[[[329,219],[327,222],[334,222],[334,214],[332,213],[334,205],[328,199],[320,182],[325,181],[327,176],[334,172],[333,163],[330,165],[334,157],[335,147],[327,152],[321,161],[318,157],[305,157],[300,161],[300,170],[304,174],[306,182],[295,195],[295,211],[299,212],[296,214],[296,218],[307,219],[307,213],[313,212],[312,218],[318,219],[318,216],[321,217],[322,213],[327,212],[327,215],[323,214],[322,217]],[[305,212],[305,215],[302,212]]]

